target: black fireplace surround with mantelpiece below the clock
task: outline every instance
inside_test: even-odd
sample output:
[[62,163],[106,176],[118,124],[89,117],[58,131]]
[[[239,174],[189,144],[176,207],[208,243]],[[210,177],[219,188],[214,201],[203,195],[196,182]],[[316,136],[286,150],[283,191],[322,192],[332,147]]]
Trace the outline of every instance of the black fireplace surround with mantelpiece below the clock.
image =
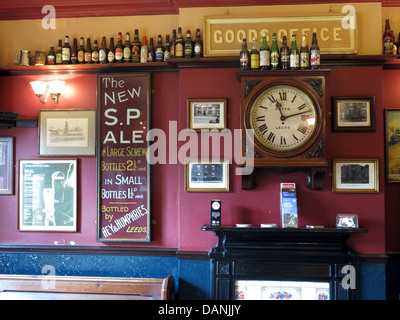
[[346,276],[342,268],[355,265],[346,242],[366,229],[202,226],[201,230],[218,237],[209,252],[216,300],[233,300],[237,280],[329,282],[332,300],[352,299],[352,290],[342,285]]

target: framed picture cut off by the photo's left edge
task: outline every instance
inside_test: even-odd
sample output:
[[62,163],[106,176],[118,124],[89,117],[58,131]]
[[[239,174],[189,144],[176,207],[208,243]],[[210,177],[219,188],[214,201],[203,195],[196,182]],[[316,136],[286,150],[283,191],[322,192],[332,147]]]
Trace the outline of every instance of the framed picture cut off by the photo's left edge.
[[0,195],[14,194],[14,138],[0,137]]

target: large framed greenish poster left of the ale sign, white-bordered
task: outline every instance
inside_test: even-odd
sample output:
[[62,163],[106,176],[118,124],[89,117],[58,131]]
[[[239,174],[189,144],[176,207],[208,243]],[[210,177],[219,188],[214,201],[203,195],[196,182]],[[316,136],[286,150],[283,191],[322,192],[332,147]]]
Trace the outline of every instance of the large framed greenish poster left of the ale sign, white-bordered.
[[19,231],[77,231],[77,160],[20,160]]

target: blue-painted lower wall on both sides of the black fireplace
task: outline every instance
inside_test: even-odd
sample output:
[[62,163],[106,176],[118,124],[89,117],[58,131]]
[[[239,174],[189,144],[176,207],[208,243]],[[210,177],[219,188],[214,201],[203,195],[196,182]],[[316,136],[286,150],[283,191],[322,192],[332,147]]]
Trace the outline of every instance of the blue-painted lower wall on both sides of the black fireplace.
[[[52,266],[56,275],[65,276],[164,278],[171,274],[178,299],[209,300],[212,297],[211,262],[208,259],[182,259],[177,254],[140,256],[0,251],[0,273],[48,274],[43,270],[45,266]],[[385,269],[385,263],[360,263],[353,298],[385,300],[389,277]],[[395,296],[398,297],[398,293]]]

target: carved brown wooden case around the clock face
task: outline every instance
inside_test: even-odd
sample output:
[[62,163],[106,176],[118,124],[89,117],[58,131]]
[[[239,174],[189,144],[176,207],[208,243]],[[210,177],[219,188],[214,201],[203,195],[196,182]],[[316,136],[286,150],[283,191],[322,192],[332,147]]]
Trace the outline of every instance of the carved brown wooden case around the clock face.
[[[243,138],[243,157],[254,157],[254,171],[250,175],[242,176],[242,189],[256,187],[255,177],[260,171],[269,170],[286,173],[301,171],[307,177],[307,187],[322,189],[322,180],[326,168],[329,166],[325,159],[326,133],[326,96],[325,78],[329,69],[307,70],[256,70],[237,72],[237,79],[241,82],[241,118],[242,136],[246,129],[250,129],[250,109],[255,99],[267,88],[275,85],[290,85],[305,92],[317,109],[317,127],[310,140],[298,149],[289,152],[274,152],[265,148],[254,137],[254,153],[251,154]],[[248,162],[246,162],[248,163]]]

